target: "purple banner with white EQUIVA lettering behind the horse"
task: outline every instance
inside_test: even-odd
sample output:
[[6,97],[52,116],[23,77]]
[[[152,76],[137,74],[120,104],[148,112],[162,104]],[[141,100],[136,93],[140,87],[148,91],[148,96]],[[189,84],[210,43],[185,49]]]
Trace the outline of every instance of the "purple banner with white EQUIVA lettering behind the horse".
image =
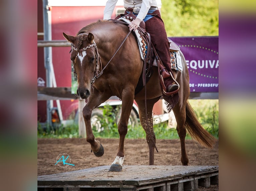
[[219,37],[170,37],[184,54],[190,92],[219,92]]

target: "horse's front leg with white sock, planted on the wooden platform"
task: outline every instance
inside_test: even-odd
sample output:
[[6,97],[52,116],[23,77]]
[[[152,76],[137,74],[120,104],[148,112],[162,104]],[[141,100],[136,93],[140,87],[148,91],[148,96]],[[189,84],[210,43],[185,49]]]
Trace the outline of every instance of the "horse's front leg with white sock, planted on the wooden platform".
[[118,123],[118,132],[119,132],[119,148],[116,155],[116,159],[111,164],[109,171],[119,172],[122,170],[122,164],[124,162],[125,152],[124,152],[124,139],[128,130],[128,121],[130,117],[130,113],[132,110],[134,94],[130,92],[130,94],[126,94],[122,96],[122,110],[121,117]]

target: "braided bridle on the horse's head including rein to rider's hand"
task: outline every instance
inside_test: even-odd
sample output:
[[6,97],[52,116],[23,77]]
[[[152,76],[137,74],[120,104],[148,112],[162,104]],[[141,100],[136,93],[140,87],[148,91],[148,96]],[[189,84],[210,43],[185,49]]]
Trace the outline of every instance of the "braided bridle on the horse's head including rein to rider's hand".
[[[121,46],[124,44],[125,40],[127,39],[127,37],[129,36],[129,34],[131,33],[132,31],[129,31],[129,33],[126,35],[126,37],[124,38],[123,42],[121,43],[121,45],[119,46],[119,48],[116,50],[115,54],[112,56],[112,58],[109,60],[109,62],[106,64],[106,66],[102,69],[102,63],[101,63],[101,57],[100,57],[100,54],[98,52],[98,48],[97,48],[97,45],[95,43],[95,41],[93,41],[93,44],[83,48],[83,49],[77,49],[74,47],[74,44],[71,45],[71,50],[70,50],[70,53],[72,52],[72,50],[76,51],[77,54],[79,54],[80,56],[83,56],[82,52],[83,51],[86,51],[87,49],[89,48],[92,48],[92,47],[95,47],[95,55],[96,55],[96,71],[94,72],[94,77],[91,81],[91,86],[94,84],[95,80],[97,78],[99,78],[102,74],[103,74],[103,71],[105,70],[105,68],[108,66],[108,64],[111,62],[111,60],[114,58],[114,56],[116,55],[116,53],[119,51],[119,49],[121,48]],[[79,35],[88,35],[88,34],[79,34]],[[75,67],[74,67],[74,64],[73,64],[73,68],[74,68],[74,76],[75,78],[77,79],[77,72],[75,71]],[[99,71],[99,68],[101,68],[101,71]]]

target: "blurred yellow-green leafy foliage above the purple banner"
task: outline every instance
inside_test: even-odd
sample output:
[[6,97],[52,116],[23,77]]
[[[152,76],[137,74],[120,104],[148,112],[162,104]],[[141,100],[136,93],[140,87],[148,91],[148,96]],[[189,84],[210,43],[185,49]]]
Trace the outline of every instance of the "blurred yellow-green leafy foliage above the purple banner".
[[161,0],[161,17],[168,37],[218,36],[218,0]]

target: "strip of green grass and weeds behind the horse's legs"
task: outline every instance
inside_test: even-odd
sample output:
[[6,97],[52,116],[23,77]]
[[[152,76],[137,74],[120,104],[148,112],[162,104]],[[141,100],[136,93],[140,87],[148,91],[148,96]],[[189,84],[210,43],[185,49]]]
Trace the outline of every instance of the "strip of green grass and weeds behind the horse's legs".
[[[194,108],[199,122],[216,138],[219,137],[219,100],[189,100]],[[111,106],[105,106],[103,110],[106,118],[101,120],[103,131],[94,130],[95,137],[101,138],[119,138],[117,124],[115,123],[115,112],[111,110]],[[72,124],[66,127],[60,125],[58,128],[47,126],[45,130],[38,124],[38,138],[79,138],[78,125]],[[157,139],[178,139],[175,128],[169,128],[166,122],[155,124],[154,132]],[[146,134],[142,126],[128,127],[126,138],[145,138]],[[189,135],[186,139],[191,139]]]

